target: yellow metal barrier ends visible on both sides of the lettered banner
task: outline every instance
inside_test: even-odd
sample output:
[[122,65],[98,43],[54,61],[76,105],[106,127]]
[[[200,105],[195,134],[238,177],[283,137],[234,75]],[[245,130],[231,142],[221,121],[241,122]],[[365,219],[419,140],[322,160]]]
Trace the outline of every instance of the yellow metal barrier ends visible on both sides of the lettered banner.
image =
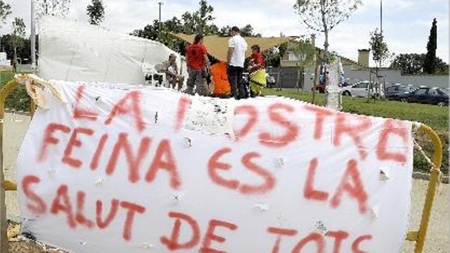
[[[16,191],[17,185],[15,182],[5,180],[3,173],[3,123],[5,118],[5,100],[11,91],[19,85],[18,82],[12,80],[8,82],[0,90],[0,252],[8,252],[8,237],[7,229],[8,224],[6,220],[6,203],[5,203],[5,191]],[[31,100],[30,113],[31,117],[34,115],[35,104]],[[440,171],[442,163],[442,143],[439,136],[433,129],[425,124],[421,124],[419,131],[426,133],[434,144],[433,153],[433,168],[430,172],[430,181],[428,183],[428,190],[426,192],[425,203],[422,210],[422,218],[420,220],[420,226],[418,231],[410,231],[407,234],[406,240],[416,242],[414,253],[422,253],[425,244],[426,232],[428,231],[428,225],[430,223],[431,210],[433,208],[433,202],[436,196],[436,191],[439,187],[442,172]]]

